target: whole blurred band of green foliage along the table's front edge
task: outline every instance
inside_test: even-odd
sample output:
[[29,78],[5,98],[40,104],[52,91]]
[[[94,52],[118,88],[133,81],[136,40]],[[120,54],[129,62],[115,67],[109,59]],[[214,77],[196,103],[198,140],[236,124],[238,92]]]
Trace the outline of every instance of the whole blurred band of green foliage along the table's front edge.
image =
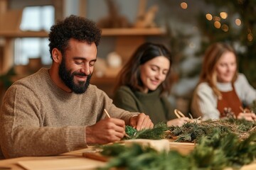
[[174,150],[156,152],[135,143],[129,147],[109,145],[104,147],[102,154],[107,153],[105,155],[113,158],[107,166],[99,169],[238,169],[255,160],[255,140],[256,132],[242,141],[231,132],[224,137],[220,132],[215,132],[212,137],[201,137],[195,149],[186,156]]

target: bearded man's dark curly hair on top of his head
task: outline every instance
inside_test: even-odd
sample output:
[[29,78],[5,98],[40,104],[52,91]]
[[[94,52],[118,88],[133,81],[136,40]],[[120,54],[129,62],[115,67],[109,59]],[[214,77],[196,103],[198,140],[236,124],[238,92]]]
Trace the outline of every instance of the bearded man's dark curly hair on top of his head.
[[63,21],[58,21],[50,28],[49,47],[50,57],[53,48],[57,48],[64,55],[70,38],[81,42],[92,43],[98,46],[102,31],[97,28],[96,23],[87,18],[71,15]]

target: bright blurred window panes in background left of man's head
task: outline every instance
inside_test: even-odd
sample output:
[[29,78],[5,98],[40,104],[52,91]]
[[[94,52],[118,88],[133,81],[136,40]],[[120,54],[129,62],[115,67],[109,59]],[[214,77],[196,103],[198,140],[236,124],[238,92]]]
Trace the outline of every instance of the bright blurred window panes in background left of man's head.
[[[50,30],[54,24],[53,6],[27,6],[23,9],[20,29],[23,31]],[[30,58],[41,58],[43,65],[51,64],[48,38],[16,38],[14,64],[26,65]]]

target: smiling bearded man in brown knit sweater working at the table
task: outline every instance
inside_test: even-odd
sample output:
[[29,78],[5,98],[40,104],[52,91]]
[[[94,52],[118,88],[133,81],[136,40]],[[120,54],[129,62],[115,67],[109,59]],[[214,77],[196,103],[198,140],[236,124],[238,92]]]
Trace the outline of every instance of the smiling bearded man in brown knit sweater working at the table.
[[[70,16],[50,28],[50,69],[16,81],[0,112],[0,155],[47,156],[121,140],[125,125],[152,128],[144,113],[117,108],[90,84],[101,30]],[[104,109],[111,118],[105,118]]]

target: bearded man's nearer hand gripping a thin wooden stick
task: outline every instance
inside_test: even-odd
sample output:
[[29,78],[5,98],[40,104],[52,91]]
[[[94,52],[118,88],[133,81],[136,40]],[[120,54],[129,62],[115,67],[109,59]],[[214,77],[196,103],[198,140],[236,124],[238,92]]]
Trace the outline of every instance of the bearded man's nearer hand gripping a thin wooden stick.
[[86,127],[86,142],[90,144],[107,144],[119,141],[125,134],[124,120],[105,118],[95,125]]

